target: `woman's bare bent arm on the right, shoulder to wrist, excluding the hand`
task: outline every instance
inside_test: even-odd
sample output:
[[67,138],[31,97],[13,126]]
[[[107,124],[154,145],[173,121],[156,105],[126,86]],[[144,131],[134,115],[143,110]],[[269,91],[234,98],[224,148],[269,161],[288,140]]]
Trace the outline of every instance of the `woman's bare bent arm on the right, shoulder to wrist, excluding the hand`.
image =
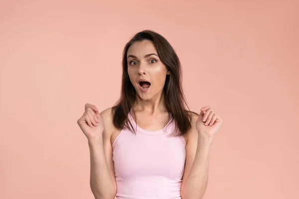
[[182,199],[202,199],[208,182],[209,156],[212,139],[196,130],[198,115],[193,115],[192,128],[187,133],[186,164],[181,186]]

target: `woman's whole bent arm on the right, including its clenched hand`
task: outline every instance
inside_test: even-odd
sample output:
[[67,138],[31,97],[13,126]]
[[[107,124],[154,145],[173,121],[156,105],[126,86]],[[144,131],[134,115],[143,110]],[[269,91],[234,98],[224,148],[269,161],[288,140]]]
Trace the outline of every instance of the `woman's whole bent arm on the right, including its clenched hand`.
[[193,115],[192,128],[187,133],[186,163],[183,174],[182,199],[202,199],[208,182],[208,166],[214,135],[222,119],[209,106],[201,108],[199,116]]

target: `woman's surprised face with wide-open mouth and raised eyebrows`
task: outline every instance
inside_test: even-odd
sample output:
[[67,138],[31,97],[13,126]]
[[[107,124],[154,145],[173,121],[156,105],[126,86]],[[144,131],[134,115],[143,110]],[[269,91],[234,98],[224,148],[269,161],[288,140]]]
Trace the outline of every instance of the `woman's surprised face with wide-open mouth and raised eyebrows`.
[[134,42],[128,49],[128,73],[137,94],[143,100],[160,96],[169,74],[150,40]]

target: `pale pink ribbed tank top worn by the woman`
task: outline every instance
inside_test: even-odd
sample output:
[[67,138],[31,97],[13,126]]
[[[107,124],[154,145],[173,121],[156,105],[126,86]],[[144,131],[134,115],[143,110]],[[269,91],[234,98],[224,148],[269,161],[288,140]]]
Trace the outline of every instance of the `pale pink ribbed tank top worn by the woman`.
[[181,199],[186,159],[183,136],[170,137],[174,121],[157,131],[124,128],[113,142],[117,199]]

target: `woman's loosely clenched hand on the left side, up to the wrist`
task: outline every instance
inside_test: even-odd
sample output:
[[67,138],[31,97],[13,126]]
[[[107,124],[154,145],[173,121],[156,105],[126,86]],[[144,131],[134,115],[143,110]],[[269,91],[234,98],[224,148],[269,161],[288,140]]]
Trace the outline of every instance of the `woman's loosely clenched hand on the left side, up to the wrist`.
[[78,119],[77,123],[88,140],[102,135],[104,130],[104,124],[98,108],[90,103],[85,104],[85,112]]

